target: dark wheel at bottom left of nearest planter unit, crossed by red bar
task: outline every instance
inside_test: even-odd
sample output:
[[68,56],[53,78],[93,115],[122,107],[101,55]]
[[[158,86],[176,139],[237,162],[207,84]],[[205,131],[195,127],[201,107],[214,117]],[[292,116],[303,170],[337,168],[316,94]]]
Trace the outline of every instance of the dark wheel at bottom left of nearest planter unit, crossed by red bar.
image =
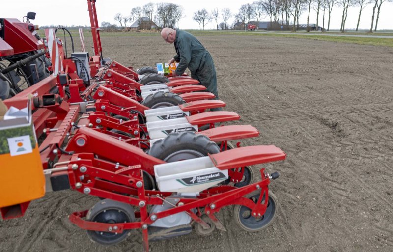
[[[111,199],[104,199],[95,204],[88,211],[86,219],[91,222],[111,223],[114,227],[116,223],[134,222],[135,214],[133,208],[128,204]],[[87,230],[87,235],[94,242],[110,245],[124,240],[129,231],[130,230],[124,230],[122,233],[116,234]]]

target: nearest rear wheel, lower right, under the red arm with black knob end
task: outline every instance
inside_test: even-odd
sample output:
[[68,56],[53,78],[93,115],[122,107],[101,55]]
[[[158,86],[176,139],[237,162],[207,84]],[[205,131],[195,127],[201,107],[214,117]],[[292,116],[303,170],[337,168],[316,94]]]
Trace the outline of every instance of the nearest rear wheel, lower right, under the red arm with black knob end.
[[[260,192],[261,191],[259,189],[246,195],[245,197],[253,200],[253,202],[256,203],[259,199]],[[262,199],[262,204],[264,204],[264,201],[265,198]],[[256,232],[268,227],[273,222],[277,214],[277,208],[277,198],[273,193],[269,192],[269,202],[264,215],[254,217],[251,215],[250,208],[242,205],[235,205],[233,208],[233,218],[244,230]]]

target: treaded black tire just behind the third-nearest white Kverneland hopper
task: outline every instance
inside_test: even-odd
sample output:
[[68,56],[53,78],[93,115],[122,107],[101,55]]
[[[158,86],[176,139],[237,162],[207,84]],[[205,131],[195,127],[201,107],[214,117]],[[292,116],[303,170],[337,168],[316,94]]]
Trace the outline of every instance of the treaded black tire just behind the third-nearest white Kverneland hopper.
[[149,107],[150,109],[164,108],[177,106],[179,104],[186,103],[179,95],[171,92],[159,91],[151,94],[142,101],[142,105]]

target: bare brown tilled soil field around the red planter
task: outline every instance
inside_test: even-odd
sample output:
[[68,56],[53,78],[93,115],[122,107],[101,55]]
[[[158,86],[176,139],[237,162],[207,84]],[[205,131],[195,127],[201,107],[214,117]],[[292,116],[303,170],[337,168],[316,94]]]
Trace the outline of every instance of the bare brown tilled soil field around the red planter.
[[[392,252],[393,48],[269,36],[198,38],[215,60],[226,110],[241,115],[235,123],[261,133],[242,145],[274,144],[287,154],[286,161],[265,166],[281,174],[270,186],[278,215],[265,231],[249,233],[227,208],[219,215],[227,232],[151,242],[151,251]],[[92,45],[91,38],[86,43]],[[104,57],[136,68],[167,62],[175,52],[159,34],[105,36],[102,43]],[[139,232],[101,246],[68,221],[68,214],[98,200],[48,193],[25,217],[0,221],[0,251],[141,251]]]

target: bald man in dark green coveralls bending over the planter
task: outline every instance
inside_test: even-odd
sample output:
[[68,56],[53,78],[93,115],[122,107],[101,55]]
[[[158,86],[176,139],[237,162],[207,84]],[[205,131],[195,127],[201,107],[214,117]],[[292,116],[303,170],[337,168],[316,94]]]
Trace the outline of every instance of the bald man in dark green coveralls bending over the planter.
[[[208,92],[213,93],[218,99],[217,74],[212,56],[190,33],[182,30],[163,28],[161,31],[163,39],[174,44],[176,55],[168,61],[168,64],[179,62],[173,76],[181,76],[186,68],[190,69],[191,77],[206,87]],[[212,111],[221,111],[221,108]]]

